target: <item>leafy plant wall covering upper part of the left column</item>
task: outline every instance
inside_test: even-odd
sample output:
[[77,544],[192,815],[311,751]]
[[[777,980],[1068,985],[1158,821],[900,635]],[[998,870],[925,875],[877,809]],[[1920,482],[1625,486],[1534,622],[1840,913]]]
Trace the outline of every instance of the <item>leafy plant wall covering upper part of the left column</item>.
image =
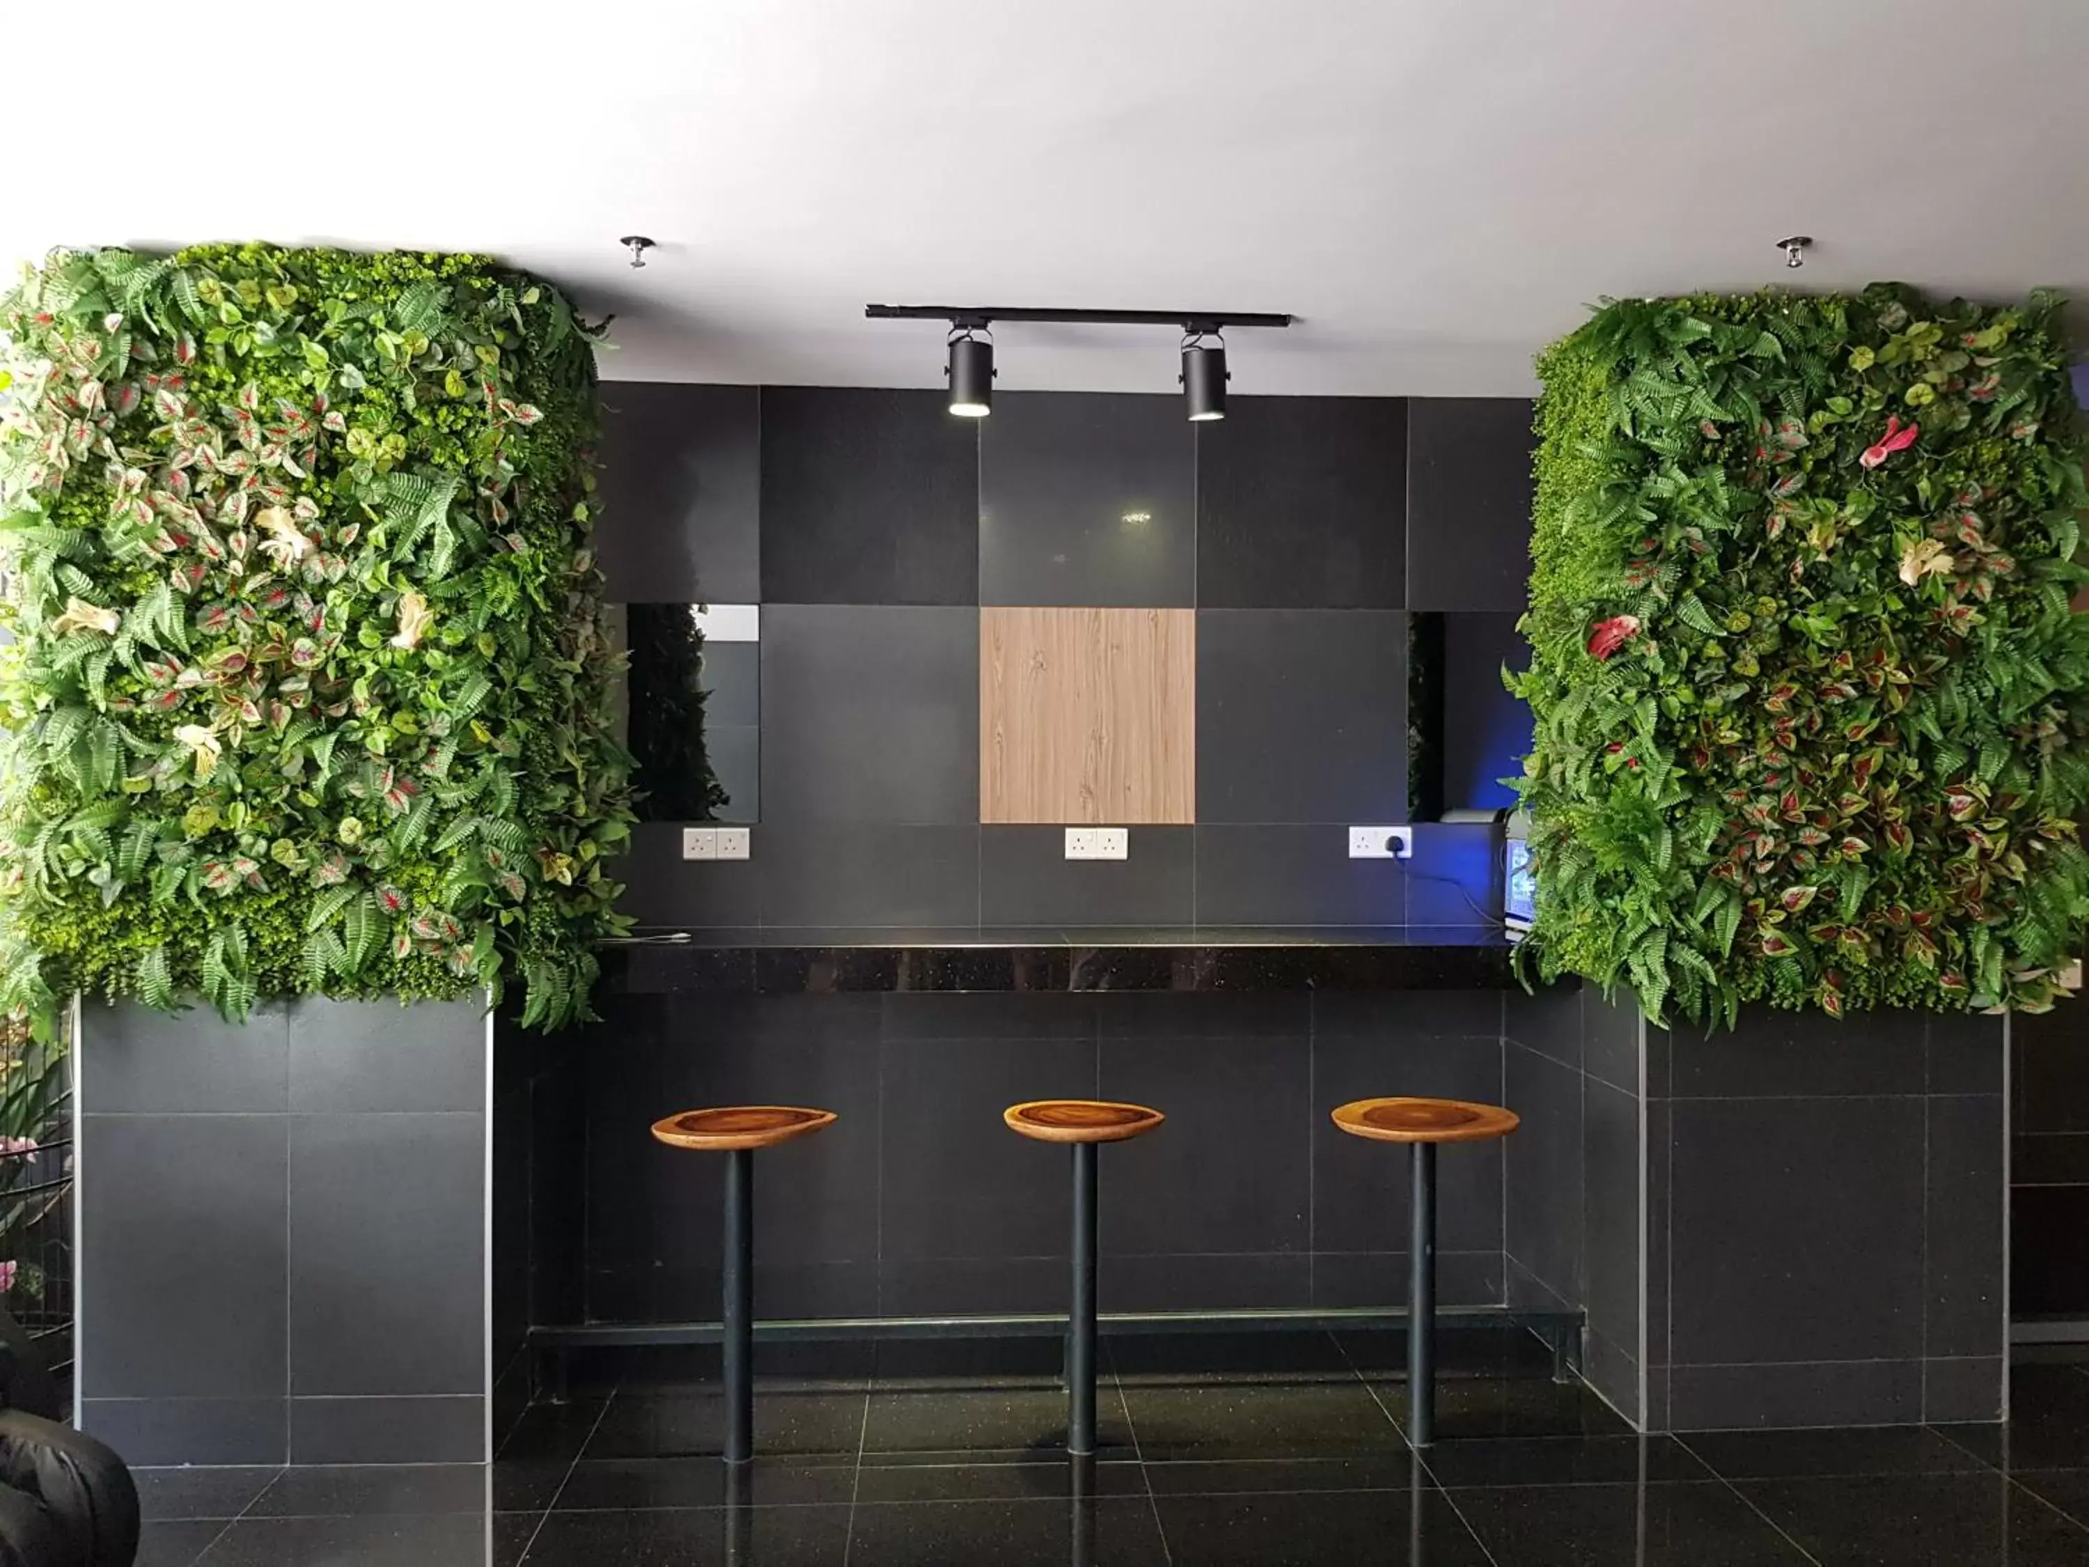
[[623,921],[589,334],[485,257],[54,253],[0,301],[0,986],[587,1011]]

